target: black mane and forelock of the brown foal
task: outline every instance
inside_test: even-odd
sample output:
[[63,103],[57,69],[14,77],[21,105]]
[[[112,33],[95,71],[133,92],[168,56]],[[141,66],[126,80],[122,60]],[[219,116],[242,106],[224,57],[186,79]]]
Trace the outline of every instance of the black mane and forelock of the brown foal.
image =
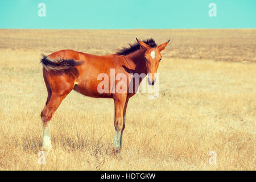
[[[150,39],[146,39],[143,40],[142,42],[148,44],[148,46],[154,48],[157,47],[158,45],[155,43],[155,40],[150,38]],[[135,42],[135,43],[128,43],[130,47],[123,47],[122,49],[119,49],[117,51],[117,55],[129,55],[131,52],[137,51],[138,49],[140,49],[139,43]]]

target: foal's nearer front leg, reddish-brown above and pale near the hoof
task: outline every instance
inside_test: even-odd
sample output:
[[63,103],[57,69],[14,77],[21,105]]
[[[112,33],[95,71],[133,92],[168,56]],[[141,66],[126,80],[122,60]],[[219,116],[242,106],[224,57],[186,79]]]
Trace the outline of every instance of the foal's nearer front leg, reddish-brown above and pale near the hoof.
[[126,105],[126,97],[118,97],[114,98],[115,104],[115,136],[114,136],[114,151],[120,152],[121,145],[122,145],[122,133],[125,129],[125,125],[123,123],[123,110],[125,109]]

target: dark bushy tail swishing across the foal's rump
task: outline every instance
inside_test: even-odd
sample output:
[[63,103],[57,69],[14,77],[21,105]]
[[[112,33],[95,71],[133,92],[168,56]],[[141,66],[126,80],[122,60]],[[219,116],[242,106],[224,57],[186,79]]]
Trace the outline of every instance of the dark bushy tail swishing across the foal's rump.
[[74,59],[51,59],[46,55],[42,55],[40,63],[43,64],[43,67],[47,70],[51,69],[54,71],[63,71],[77,65],[81,65],[82,61],[75,61]]

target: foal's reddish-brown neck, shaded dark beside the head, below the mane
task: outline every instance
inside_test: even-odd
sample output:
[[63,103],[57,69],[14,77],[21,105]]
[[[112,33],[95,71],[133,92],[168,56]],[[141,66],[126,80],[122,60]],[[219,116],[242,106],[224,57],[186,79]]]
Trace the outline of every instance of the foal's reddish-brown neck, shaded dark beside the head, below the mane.
[[125,60],[129,64],[129,69],[133,69],[133,73],[145,73],[147,74],[146,63],[144,60],[143,49],[138,49],[135,52],[130,53],[129,55],[124,56]]

